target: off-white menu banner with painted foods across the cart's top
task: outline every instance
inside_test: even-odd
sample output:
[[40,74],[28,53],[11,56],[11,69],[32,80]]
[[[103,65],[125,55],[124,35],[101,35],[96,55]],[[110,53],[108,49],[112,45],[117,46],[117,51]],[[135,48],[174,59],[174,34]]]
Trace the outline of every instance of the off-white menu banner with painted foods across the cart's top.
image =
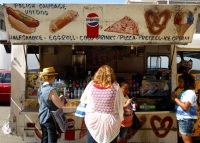
[[186,44],[199,6],[4,4],[13,44]]

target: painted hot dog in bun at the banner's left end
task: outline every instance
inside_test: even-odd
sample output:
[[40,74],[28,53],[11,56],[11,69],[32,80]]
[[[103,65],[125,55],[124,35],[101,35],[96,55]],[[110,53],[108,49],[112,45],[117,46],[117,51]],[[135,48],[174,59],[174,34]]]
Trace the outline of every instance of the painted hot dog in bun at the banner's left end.
[[39,21],[35,20],[33,17],[26,15],[19,10],[13,10],[11,7],[6,8],[8,14],[8,21],[13,28],[17,31],[31,34],[34,33],[36,27],[39,26]]

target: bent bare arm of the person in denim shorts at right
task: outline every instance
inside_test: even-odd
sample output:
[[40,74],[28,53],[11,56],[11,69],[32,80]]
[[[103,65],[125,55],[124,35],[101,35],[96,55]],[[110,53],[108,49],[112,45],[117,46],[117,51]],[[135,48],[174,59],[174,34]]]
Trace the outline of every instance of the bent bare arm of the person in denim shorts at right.
[[171,96],[172,96],[172,100],[174,100],[176,104],[178,104],[181,108],[183,108],[186,111],[190,109],[191,103],[189,101],[182,102],[180,99],[177,98],[177,95],[175,92],[172,92]]

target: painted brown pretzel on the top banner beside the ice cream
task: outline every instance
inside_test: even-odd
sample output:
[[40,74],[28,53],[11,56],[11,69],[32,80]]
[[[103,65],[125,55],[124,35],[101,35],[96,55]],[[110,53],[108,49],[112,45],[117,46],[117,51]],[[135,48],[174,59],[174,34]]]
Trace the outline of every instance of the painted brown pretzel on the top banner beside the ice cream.
[[145,12],[144,17],[149,33],[152,35],[160,35],[171,18],[171,12],[165,9],[157,14],[152,9],[149,9]]

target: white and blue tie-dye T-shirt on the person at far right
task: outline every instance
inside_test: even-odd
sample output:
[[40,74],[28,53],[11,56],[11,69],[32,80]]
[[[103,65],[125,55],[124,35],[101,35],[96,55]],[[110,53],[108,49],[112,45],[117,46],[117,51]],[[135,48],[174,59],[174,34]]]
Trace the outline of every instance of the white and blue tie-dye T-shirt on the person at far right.
[[178,96],[178,99],[180,99],[182,102],[190,102],[191,106],[186,111],[180,106],[178,106],[178,104],[175,104],[177,120],[197,119],[197,109],[196,109],[197,99],[195,92],[193,90],[182,91]]

